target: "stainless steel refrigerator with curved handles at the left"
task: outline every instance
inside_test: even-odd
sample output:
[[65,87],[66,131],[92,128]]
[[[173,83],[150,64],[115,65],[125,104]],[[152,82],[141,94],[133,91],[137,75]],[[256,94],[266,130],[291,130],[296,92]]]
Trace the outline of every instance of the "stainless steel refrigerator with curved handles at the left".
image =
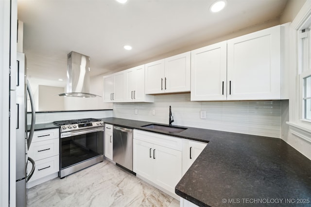
[[[17,52],[16,81],[16,206],[26,207],[26,182],[31,178],[35,171],[35,161],[27,156],[35,130],[35,102],[26,78],[25,54],[19,52]],[[29,136],[27,133],[27,92],[29,94],[32,109],[32,121]],[[27,163],[32,164],[31,172],[27,172]]]

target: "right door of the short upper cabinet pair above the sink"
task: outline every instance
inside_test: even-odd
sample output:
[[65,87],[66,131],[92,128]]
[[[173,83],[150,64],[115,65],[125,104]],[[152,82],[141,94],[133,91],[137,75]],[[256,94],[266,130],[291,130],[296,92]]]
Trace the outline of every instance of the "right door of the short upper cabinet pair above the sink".
[[190,52],[165,59],[166,93],[190,91]]

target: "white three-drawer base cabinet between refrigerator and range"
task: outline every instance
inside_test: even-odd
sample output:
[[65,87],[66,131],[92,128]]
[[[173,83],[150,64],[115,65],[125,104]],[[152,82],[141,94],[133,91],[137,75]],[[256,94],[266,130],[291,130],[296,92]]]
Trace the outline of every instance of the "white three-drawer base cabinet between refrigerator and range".
[[[35,160],[35,172],[27,182],[27,188],[57,177],[59,172],[59,128],[35,131],[28,150],[28,157]],[[28,162],[28,174],[31,169],[32,164]]]

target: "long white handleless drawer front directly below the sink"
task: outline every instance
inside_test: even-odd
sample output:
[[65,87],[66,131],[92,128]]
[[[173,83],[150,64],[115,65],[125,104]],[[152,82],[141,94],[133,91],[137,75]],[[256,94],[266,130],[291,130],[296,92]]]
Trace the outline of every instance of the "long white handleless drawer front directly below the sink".
[[157,134],[148,131],[134,129],[134,139],[148,143],[154,143],[160,146],[165,146],[178,151],[182,150],[182,139],[162,134]]

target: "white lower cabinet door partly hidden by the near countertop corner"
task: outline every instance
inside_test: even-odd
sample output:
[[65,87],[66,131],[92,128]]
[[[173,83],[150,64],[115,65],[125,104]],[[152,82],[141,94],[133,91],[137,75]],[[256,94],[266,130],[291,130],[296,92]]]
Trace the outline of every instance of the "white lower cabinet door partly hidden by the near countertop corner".
[[207,143],[183,140],[183,175],[188,171],[193,162],[199,157]]

